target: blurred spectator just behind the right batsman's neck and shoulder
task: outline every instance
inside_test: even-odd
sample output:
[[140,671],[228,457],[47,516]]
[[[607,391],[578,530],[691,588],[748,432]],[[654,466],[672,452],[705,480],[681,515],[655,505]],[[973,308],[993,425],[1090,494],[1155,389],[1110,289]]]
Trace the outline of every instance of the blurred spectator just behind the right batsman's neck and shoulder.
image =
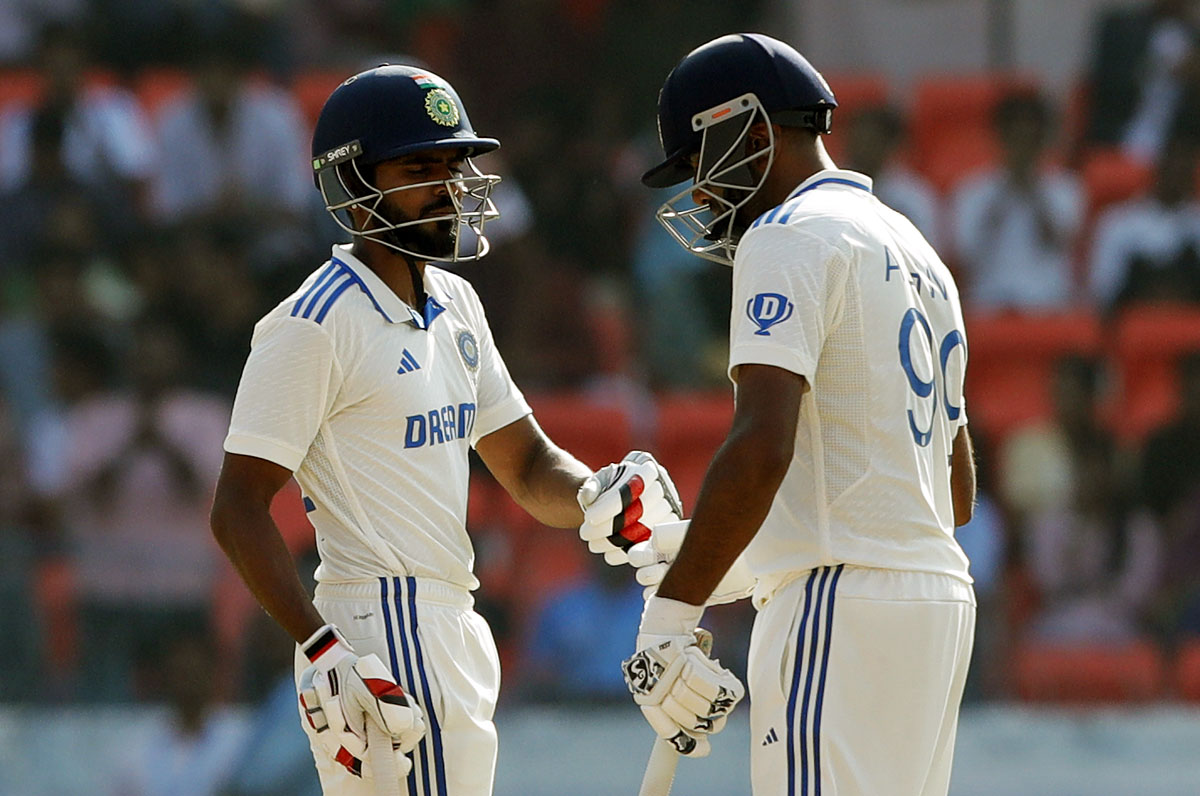
[[847,139],[851,168],[874,181],[875,196],[908,217],[934,249],[941,247],[937,194],[898,157],[905,139],[904,116],[896,108],[864,108],[850,118]]

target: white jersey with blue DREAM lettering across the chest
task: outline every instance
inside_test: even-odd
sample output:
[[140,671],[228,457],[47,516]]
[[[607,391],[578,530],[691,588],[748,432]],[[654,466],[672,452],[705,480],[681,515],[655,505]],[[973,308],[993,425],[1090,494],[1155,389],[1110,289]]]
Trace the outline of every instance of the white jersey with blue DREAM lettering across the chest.
[[475,588],[468,445],[529,414],[479,297],[427,267],[420,315],[349,246],[254,327],[224,449],[295,472],[319,581]]

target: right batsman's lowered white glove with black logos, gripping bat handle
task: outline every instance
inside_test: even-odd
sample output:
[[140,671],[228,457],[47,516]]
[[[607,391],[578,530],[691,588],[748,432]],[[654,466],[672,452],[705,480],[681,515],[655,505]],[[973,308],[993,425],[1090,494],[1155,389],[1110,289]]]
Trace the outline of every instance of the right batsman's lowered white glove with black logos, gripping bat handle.
[[[652,597],[642,612],[637,653],[622,664],[625,684],[660,738],[690,758],[707,756],[708,736],[725,729],[745,688],[698,641],[703,606]],[[709,636],[710,639],[712,636]]]

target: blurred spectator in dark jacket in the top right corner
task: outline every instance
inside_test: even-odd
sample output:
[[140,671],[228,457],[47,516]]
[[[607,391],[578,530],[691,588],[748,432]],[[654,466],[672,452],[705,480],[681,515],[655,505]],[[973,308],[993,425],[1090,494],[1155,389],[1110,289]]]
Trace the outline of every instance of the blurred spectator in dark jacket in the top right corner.
[[1152,0],[1109,10],[1093,47],[1094,144],[1156,163],[1180,134],[1200,136],[1200,31],[1194,0]]

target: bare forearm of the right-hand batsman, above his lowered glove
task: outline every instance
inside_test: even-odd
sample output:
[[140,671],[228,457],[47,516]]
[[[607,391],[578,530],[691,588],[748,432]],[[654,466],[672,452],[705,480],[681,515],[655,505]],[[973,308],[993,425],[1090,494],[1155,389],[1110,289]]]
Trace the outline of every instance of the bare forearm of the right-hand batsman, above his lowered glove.
[[750,438],[731,437],[721,445],[659,597],[704,604],[767,519],[787,463],[781,456],[764,456]]

